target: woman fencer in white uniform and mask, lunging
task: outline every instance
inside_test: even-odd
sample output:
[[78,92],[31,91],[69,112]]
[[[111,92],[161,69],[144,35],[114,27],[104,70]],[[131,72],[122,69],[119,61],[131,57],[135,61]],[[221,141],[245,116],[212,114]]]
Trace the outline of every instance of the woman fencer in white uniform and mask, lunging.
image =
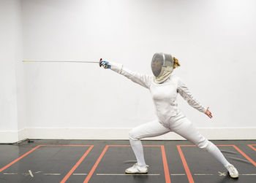
[[173,69],[180,66],[178,59],[170,54],[155,53],[151,61],[151,69],[154,76],[139,74],[130,71],[121,64],[100,61],[100,66],[105,69],[111,69],[118,74],[131,79],[133,82],[146,87],[150,90],[156,109],[157,120],[140,125],[129,131],[129,141],[132,150],[135,153],[137,163],[126,169],[127,174],[147,174],[148,166],[145,163],[143,155],[143,146],[140,139],[152,136],[160,136],[162,134],[173,131],[191,141],[197,147],[206,149],[220,163],[222,163],[232,178],[238,177],[238,171],[231,165],[222,152],[213,144],[202,136],[197,129],[192,125],[187,117],[182,114],[177,105],[178,93],[188,102],[188,104],[200,112],[205,113],[208,117],[212,117],[209,108],[202,106],[189,92],[188,88],[176,77]]

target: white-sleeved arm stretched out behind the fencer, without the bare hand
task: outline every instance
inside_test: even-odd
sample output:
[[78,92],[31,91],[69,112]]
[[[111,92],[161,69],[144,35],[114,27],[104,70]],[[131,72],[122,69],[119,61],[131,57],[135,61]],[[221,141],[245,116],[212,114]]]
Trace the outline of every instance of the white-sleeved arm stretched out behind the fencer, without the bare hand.
[[181,79],[178,79],[178,93],[187,101],[187,103],[197,109],[200,112],[205,113],[206,112],[206,107],[201,105],[199,101],[197,101],[192,94],[190,93],[189,89],[187,86],[181,82]]

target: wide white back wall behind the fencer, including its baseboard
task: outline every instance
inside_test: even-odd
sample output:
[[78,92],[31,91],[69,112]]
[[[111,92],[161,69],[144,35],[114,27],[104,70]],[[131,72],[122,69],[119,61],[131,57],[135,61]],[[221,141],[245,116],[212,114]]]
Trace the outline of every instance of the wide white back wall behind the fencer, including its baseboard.
[[[209,120],[178,98],[201,133],[209,139],[256,138],[255,1],[22,0],[21,5],[23,60],[104,58],[151,74],[154,52],[171,52],[181,62],[175,73],[214,115]],[[148,90],[97,64],[22,67],[18,111],[29,138],[127,139],[130,128],[155,119]]]

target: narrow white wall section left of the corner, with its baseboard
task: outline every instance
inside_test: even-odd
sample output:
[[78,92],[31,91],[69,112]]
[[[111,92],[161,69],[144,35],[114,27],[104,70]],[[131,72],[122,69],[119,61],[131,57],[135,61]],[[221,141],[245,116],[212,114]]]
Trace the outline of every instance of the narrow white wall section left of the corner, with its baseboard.
[[12,142],[18,141],[18,131],[25,126],[18,120],[17,104],[17,81],[22,81],[17,75],[22,59],[20,1],[0,1],[0,26],[0,139]]

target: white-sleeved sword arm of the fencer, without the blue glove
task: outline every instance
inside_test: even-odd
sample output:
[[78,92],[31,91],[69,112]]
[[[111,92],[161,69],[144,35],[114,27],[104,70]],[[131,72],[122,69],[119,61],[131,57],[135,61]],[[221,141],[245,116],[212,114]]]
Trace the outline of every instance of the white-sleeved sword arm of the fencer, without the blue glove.
[[122,74],[125,77],[132,80],[132,82],[138,83],[139,85],[149,88],[152,82],[151,76],[146,74],[140,74],[135,71],[130,71],[119,63],[110,63],[110,69],[116,71],[118,74]]

